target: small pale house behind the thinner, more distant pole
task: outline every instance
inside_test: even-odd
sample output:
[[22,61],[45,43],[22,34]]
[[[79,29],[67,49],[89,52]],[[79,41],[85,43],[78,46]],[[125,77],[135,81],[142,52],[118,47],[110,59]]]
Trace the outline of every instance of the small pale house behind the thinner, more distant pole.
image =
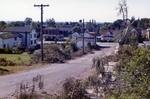
[[95,45],[95,32],[86,31],[84,33],[79,34],[77,32],[72,34],[72,40],[76,43],[78,48],[83,48],[83,39],[84,39],[84,47],[88,47],[88,44],[94,46]]

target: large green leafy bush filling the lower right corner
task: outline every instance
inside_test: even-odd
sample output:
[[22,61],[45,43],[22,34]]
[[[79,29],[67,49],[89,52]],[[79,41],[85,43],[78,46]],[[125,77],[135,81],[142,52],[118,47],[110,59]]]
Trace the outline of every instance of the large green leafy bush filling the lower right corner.
[[[119,91],[115,99],[149,99],[150,97],[150,49],[123,46],[119,50]],[[132,98],[131,98],[132,97]],[[133,98],[134,97],[134,98]]]

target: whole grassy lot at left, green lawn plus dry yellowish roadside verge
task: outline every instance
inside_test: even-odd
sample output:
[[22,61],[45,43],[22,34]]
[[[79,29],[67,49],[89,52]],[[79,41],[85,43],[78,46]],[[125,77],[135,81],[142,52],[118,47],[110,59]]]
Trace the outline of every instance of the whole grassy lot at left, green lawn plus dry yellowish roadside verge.
[[10,60],[16,64],[15,66],[0,66],[0,75],[28,70],[31,63],[31,57],[28,53],[0,54],[0,58],[5,58],[6,60]]

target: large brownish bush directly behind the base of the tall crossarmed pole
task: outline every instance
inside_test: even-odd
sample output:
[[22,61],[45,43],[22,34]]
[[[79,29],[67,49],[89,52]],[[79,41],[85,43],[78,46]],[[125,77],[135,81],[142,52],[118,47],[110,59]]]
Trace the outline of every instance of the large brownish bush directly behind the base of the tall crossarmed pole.
[[[44,45],[44,61],[47,63],[63,63],[69,58],[69,55],[59,45]],[[32,59],[35,62],[40,62],[41,50],[35,51]]]

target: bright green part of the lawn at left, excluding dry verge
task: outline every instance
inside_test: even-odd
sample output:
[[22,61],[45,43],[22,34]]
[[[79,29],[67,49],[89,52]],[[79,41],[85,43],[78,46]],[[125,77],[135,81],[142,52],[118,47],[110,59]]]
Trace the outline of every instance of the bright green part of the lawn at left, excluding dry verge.
[[17,65],[29,65],[31,57],[28,53],[23,54],[0,54],[0,58],[6,58]]

